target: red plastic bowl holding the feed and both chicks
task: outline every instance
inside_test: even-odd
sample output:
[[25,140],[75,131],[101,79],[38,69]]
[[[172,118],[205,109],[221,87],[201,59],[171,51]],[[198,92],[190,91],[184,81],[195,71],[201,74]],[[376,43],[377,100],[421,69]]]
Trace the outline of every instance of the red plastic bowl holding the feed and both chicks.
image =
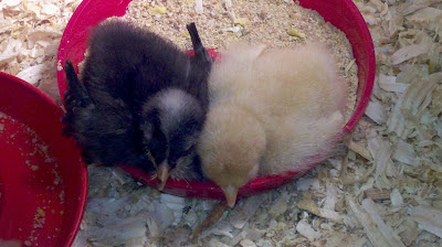
[[[72,15],[63,33],[59,49],[59,64],[64,64],[66,58],[74,64],[83,61],[90,26],[113,15],[124,15],[129,2],[130,0],[84,0]],[[344,131],[351,132],[367,107],[375,79],[375,50],[366,22],[351,0],[299,0],[299,4],[316,10],[326,21],[344,31],[351,43],[359,73],[357,106],[352,117],[344,127]],[[60,94],[63,96],[66,83],[62,69],[57,72],[57,79]],[[159,180],[152,180],[150,174],[136,168],[123,167],[123,169],[141,183],[154,187],[158,186]],[[301,175],[301,172],[293,171],[256,178],[240,189],[239,197],[278,187]],[[169,180],[164,192],[179,196],[224,197],[221,189],[211,182]]]

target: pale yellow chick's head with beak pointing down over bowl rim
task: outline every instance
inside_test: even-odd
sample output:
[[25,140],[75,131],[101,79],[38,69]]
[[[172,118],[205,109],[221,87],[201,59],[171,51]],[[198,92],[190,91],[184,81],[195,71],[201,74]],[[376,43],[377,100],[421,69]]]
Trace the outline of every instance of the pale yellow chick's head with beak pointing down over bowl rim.
[[238,190],[257,175],[265,144],[264,126],[253,111],[229,104],[209,110],[198,153],[204,176],[223,190],[230,207]]

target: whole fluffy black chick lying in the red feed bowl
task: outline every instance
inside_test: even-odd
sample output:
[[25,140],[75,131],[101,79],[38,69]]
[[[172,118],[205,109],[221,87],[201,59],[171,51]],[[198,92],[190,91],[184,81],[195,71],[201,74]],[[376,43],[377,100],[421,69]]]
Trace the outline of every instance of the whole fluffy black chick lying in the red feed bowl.
[[[161,36],[118,20],[105,21],[93,30],[81,78],[95,106],[94,120],[119,114],[124,106],[128,116],[126,128],[135,132],[130,136],[131,146],[137,147],[128,152],[138,157],[99,163],[137,165],[146,171],[155,167],[164,183],[169,173],[177,179],[201,178],[194,146],[206,118],[207,77],[211,67],[211,62],[197,63],[202,53],[190,58]],[[197,72],[204,72],[206,77],[194,75]],[[75,97],[83,100],[85,96]],[[67,109],[70,114],[73,115]],[[65,118],[64,122],[71,126],[66,133],[84,136],[83,147],[98,143],[102,146],[97,144],[97,149],[104,149],[101,152],[114,151],[97,140],[114,129],[91,122],[87,128],[96,129],[97,133],[87,136],[85,126],[76,126],[77,116]],[[160,172],[161,168],[166,172]],[[178,168],[182,170],[173,172]]]

